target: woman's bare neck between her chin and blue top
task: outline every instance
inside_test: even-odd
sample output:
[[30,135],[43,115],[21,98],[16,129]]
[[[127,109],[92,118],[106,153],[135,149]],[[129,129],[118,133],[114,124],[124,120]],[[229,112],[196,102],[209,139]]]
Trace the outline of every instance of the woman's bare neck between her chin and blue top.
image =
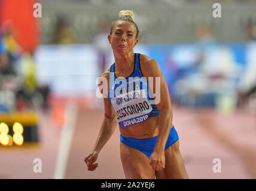
[[133,51],[128,55],[115,55],[115,72],[117,73],[124,73],[125,71],[129,71],[134,64],[134,57],[135,54]]

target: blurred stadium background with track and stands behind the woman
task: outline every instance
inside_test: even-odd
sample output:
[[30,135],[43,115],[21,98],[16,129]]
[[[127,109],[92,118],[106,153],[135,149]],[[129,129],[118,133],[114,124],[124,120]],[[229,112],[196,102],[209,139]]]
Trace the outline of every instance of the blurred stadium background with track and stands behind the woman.
[[[216,2],[221,18],[212,16]],[[135,11],[135,53],[155,58],[164,73],[190,178],[256,178],[255,5],[1,0],[0,122],[13,140],[20,122],[24,141],[5,146],[0,138],[0,178],[124,178],[118,130],[96,171],[83,161],[103,119],[96,79],[114,61],[106,36],[120,10]],[[213,171],[216,158],[221,172]]]

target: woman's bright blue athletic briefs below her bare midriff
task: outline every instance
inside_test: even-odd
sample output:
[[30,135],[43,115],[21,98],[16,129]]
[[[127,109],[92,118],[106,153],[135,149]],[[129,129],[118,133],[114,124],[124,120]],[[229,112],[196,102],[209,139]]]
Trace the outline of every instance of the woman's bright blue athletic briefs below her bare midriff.
[[[123,144],[126,144],[129,147],[132,147],[133,149],[137,149],[144,153],[145,155],[150,158],[151,154],[154,151],[154,147],[157,143],[157,137],[152,137],[152,138],[145,138],[145,139],[139,139],[139,138],[130,138],[130,137],[124,137],[123,135],[120,134],[120,141]],[[170,128],[170,133],[167,138],[165,148],[164,150],[168,149],[170,146],[172,146],[173,143],[179,140],[178,134],[172,126]]]

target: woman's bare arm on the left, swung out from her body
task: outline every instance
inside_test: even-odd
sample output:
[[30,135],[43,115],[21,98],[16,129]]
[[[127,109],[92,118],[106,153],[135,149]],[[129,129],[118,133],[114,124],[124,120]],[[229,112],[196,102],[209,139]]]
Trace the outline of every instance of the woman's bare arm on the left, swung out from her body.
[[[100,77],[102,76],[109,79],[109,73],[107,72],[100,75]],[[97,163],[95,164],[97,156],[117,127],[117,121],[115,120],[115,110],[112,108],[109,99],[103,98],[103,102],[105,107],[105,115],[99,131],[99,135],[97,136],[97,140],[92,152],[84,159],[89,171],[94,171],[97,168]]]

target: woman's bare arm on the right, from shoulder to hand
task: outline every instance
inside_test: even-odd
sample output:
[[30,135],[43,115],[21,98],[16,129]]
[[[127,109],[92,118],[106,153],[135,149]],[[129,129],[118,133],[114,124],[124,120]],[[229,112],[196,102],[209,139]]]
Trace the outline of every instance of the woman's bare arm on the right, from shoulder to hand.
[[[150,158],[151,167],[155,170],[161,170],[165,166],[165,157],[164,157],[164,147],[167,141],[167,137],[172,127],[172,105],[170,101],[169,91],[164,79],[163,73],[161,72],[160,66],[156,60],[153,58],[146,58],[146,62],[143,64],[144,69],[143,75],[145,77],[153,77],[154,84],[153,87],[150,84],[151,91],[156,94],[156,106],[160,112],[159,119],[159,136],[157,138],[156,146],[154,147],[154,152]],[[141,64],[142,65],[142,64]],[[143,67],[142,66],[142,67]],[[147,69],[145,68],[147,66]],[[157,77],[160,77],[160,83],[156,83]],[[156,92],[156,85],[160,84],[160,92]],[[157,97],[159,96],[159,97]]]

